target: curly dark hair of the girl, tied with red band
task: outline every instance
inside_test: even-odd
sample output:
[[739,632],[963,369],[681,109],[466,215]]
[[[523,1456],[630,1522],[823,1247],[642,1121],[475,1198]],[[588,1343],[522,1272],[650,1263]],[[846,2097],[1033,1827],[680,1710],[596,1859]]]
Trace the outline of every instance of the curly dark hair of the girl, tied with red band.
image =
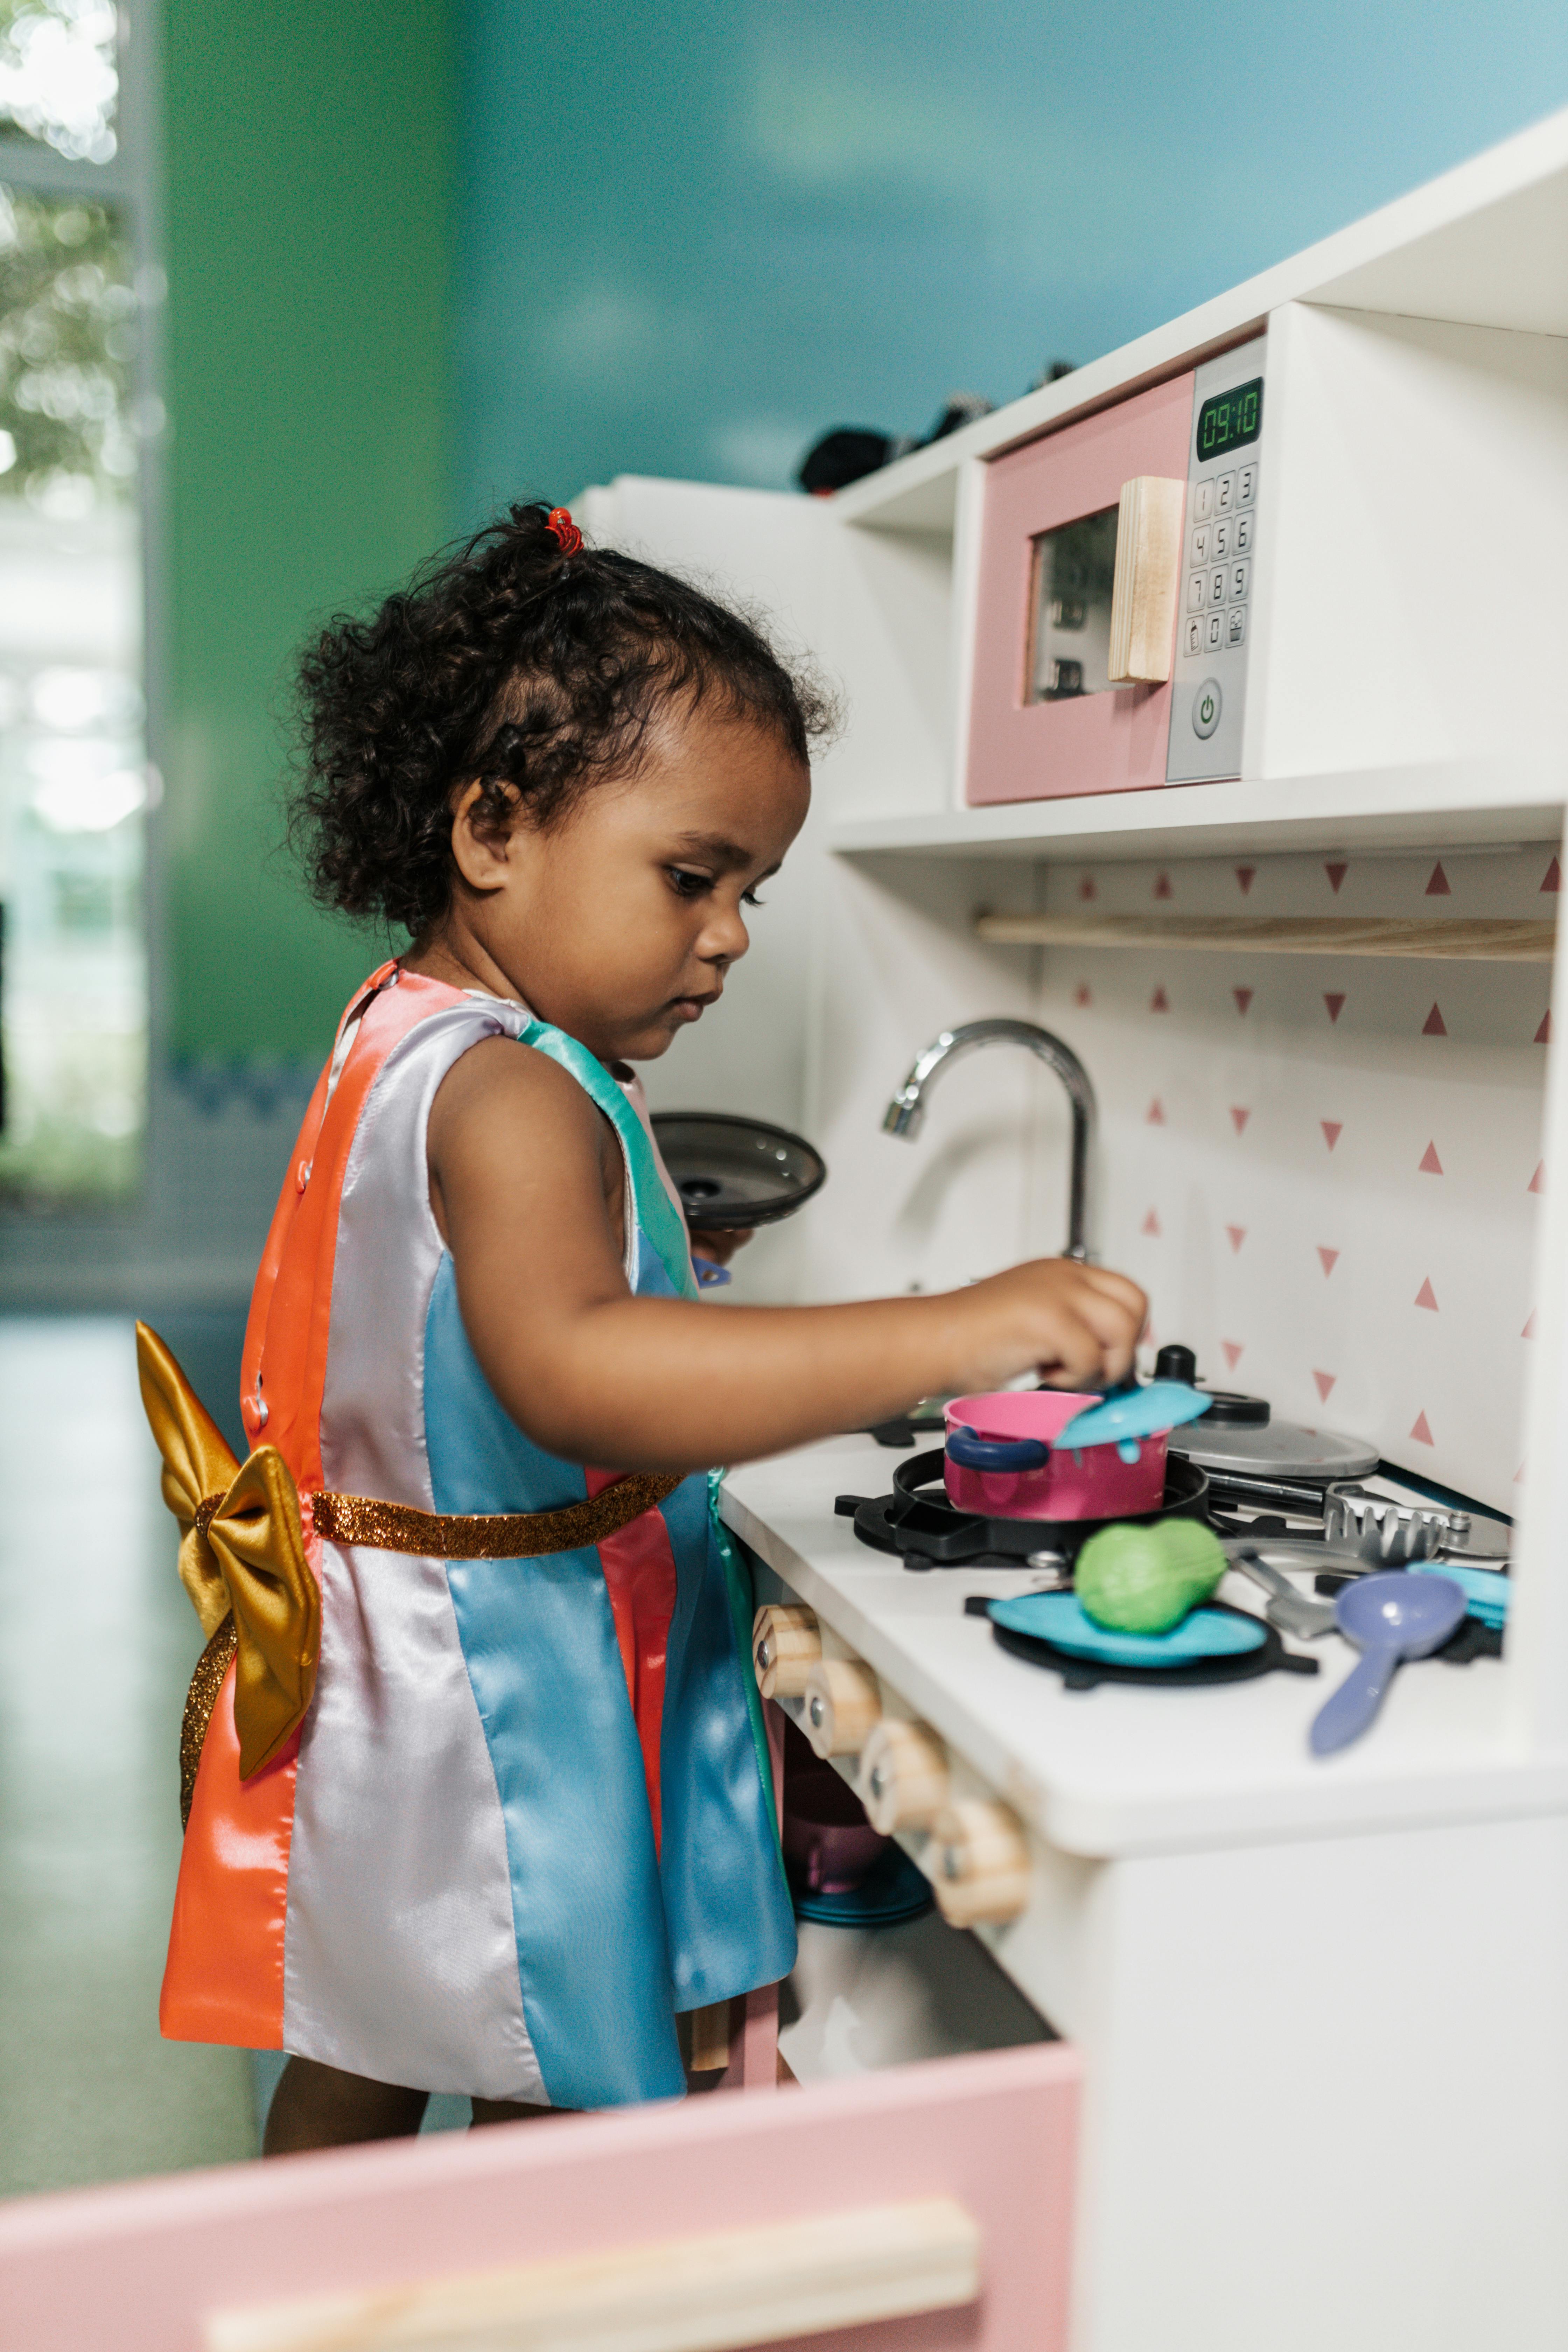
[[512,506],[306,647],[289,840],[313,896],[428,934],[451,903],[454,786],[477,779],[496,826],[555,826],[635,774],[670,699],[717,699],[802,767],[832,724],[755,621],[632,555],[564,555],[543,506]]

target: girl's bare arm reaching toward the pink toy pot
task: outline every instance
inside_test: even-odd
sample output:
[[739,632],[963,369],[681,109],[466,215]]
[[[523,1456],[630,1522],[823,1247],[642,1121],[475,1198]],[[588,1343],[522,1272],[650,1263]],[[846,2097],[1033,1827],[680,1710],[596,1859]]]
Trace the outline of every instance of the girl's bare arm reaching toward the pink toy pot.
[[430,1112],[430,1197],[463,1327],[512,1421],[567,1461],[693,1470],[1020,1371],[1088,1388],[1131,1369],[1143,1291],[1063,1258],[863,1305],[632,1298],[604,1204],[607,1148],[618,1150],[576,1080],[501,1037],[454,1065]]

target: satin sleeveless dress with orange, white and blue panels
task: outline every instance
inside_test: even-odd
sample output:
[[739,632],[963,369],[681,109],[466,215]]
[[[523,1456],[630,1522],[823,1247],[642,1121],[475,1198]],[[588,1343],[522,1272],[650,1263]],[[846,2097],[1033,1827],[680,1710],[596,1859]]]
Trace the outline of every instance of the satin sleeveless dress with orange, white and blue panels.
[[[639,1091],[524,1007],[388,964],[306,1112],[244,1341],[247,1437],[282,1451],[301,1494],[531,1512],[616,1477],[557,1461],[501,1409],[430,1214],[435,1089],[498,1035],[557,1061],[616,1129],[630,1289],[696,1296]],[[165,2034],[538,2105],[677,2096],[677,2011],[795,1959],[750,1588],[710,1477],[543,1559],[339,1545],[308,1515],[306,1548],[322,1592],[310,1710],[240,1780],[228,1670]]]

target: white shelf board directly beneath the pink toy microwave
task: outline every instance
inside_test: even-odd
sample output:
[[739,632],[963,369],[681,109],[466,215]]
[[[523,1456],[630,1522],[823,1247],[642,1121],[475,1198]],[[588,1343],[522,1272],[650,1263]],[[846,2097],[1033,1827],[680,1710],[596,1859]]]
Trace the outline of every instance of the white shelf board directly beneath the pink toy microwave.
[[1356,849],[1458,849],[1554,842],[1568,804],[1566,760],[1455,762],[1258,783],[1171,783],[1152,793],[1011,800],[987,809],[842,816],[844,854],[980,858],[1222,858]]

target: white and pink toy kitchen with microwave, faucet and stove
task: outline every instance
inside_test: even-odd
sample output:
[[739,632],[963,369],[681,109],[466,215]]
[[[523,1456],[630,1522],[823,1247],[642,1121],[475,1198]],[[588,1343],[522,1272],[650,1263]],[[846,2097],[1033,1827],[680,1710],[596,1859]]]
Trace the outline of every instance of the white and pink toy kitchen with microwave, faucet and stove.
[[[802,1966],[719,2067],[797,2086],[425,2147],[418,2267],[625,2206],[773,2281],[637,2343],[1556,2352],[1568,115],[830,499],[574,503],[846,701],[649,1070],[830,1171],[712,1312],[1067,1249],[1152,1322],[729,1472]],[[334,2161],[273,2218],[409,2152]]]

